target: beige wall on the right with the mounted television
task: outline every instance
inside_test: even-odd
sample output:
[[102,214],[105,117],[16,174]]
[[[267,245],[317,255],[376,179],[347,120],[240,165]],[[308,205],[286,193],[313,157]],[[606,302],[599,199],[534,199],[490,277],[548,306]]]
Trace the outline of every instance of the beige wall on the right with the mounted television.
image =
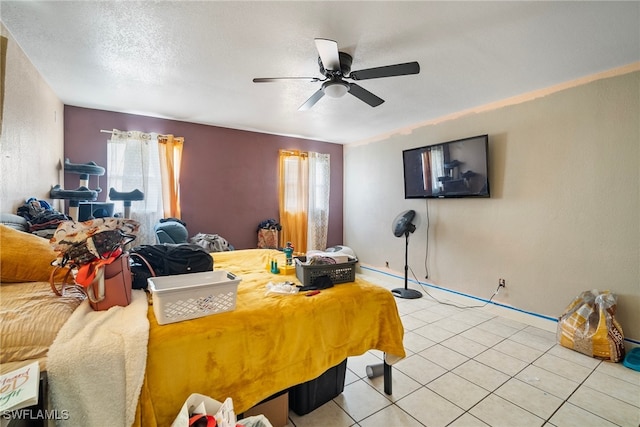
[[[640,72],[462,115],[344,149],[345,244],[364,264],[557,317],[583,290],[618,295],[625,337],[640,340]],[[492,197],[405,200],[402,150],[489,134]],[[366,179],[365,179],[366,178]]]

